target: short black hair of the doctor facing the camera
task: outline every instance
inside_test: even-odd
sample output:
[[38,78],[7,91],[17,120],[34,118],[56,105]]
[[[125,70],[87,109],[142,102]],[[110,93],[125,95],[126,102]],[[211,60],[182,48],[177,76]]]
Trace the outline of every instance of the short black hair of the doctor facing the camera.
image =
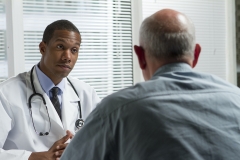
[[53,23],[49,24],[45,28],[45,30],[43,32],[42,41],[45,43],[48,43],[51,40],[51,38],[53,37],[53,33],[55,30],[73,31],[73,32],[79,33],[79,35],[81,35],[79,30],[77,29],[77,27],[72,22],[61,19],[61,20],[54,21]]

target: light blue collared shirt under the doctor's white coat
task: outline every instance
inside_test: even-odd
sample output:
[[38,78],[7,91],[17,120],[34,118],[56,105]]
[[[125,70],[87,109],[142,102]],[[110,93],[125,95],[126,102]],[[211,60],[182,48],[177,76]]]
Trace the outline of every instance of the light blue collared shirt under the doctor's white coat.
[[64,82],[65,78],[63,78],[62,81],[55,86],[55,84],[52,82],[52,80],[39,69],[38,65],[35,65],[35,68],[36,68],[36,73],[37,73],[37,77],[40,82],[40,85],[41,85],[42,89],[44,90],[44,92],[48,95],[49,98],[52,98],[51,89],[53,87],[59,88],[58,89],[58,99],[59,99],[59,102],[60,102],[61,108],[62,108],[62,94],[63,94],[64,87],[65,87],[65,82]]

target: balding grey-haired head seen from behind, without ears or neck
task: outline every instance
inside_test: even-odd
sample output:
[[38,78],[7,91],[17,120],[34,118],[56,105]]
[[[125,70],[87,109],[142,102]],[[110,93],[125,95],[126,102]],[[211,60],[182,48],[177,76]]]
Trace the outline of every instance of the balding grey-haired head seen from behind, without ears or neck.
[[193,23],[184,14],[163,9],[143,21],[140,45],[149,57],[158,60],[192,60],[195,49],[194,32]]

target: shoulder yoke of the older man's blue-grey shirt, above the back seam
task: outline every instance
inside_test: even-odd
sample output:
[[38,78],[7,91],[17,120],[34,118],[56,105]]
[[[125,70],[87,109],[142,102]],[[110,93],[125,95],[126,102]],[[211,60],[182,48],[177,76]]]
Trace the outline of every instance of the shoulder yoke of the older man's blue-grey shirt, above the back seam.
[[[240,95],[235,85],[211,74],[198,72],[178,72],[161,75],[155,79],[137,83],[105,97],[98,108],[102,114],[109,114],[128,104],[133,105],[139,100],[156,96],[181,93],[200,93],[203,91],[217,91],[226,94]],[[102,108],[102,109],[101,109]]]

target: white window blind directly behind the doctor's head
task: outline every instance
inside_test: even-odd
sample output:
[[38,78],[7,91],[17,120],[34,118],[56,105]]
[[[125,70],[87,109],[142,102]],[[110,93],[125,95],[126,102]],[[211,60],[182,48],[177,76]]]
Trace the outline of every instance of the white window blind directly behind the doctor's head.
[[45,27],[67,19],[82,35],[71,76],[101,98],[133,84],[131,0],[23,0],[23,16],[26,71],[40,60]]

